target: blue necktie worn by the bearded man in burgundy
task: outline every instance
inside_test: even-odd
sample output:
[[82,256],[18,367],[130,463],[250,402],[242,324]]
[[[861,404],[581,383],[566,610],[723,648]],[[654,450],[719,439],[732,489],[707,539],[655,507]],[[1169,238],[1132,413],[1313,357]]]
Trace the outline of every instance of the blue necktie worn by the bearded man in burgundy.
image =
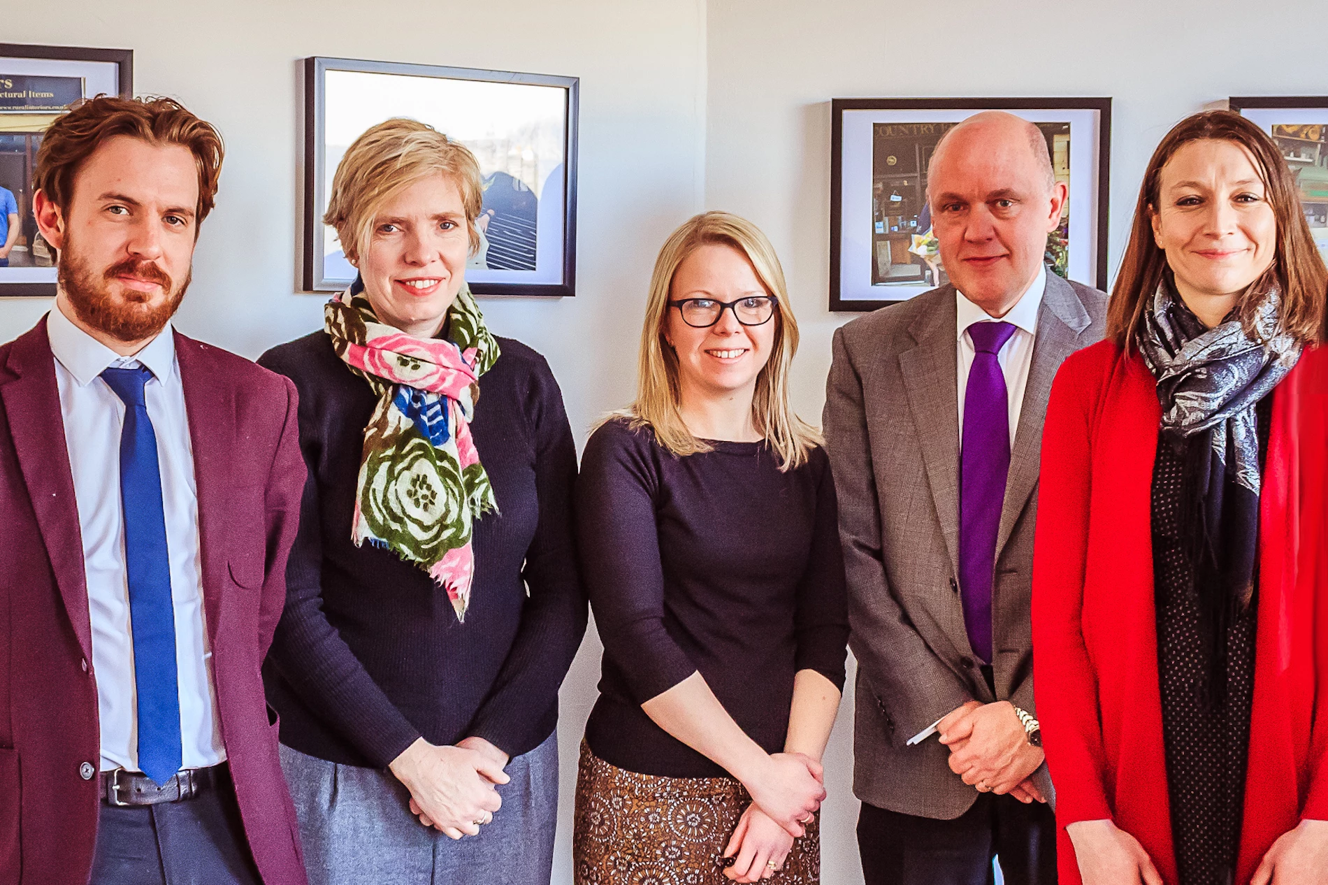
[[151,376],[145,367],[108,368],[101,373],[125,403],[120,501],[125,508],[125,565],[138,690],[138,767],[163,784],[181,765],[179,679],[157,435],[143,399],[143,385]]

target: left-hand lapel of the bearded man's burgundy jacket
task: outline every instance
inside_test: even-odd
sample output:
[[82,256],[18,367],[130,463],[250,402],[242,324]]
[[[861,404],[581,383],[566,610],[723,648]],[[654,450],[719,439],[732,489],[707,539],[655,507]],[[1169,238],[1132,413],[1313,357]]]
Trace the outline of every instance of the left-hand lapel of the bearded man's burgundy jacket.
[[65,423],[60,413],[56,357],[46,338],[45,316],[9,348],[8,368],[15,377],[0,383],[0,397],[4,399],[19,466],[65,613],[84,658],[92,660],[82,532],[78,528],[69,449],[65,448]]

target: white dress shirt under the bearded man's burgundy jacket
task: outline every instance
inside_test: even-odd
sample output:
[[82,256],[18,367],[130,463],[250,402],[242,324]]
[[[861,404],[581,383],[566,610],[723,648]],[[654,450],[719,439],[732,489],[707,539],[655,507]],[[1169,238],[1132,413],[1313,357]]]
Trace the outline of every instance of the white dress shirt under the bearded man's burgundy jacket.
[[46,318],[56,355],[60,412],[74,477],[82,533],[92,662],[101,714],[101,769],[138,768],[138,698],[134,642],[129,625],[125,518],[120,501],[120,435],[125,404],[100,375],[108,367],[146,365],[147,417],[157,436],[171,601],[175,606],[175,666],[179,684],[182,767],[202,768],[226,759],[212,652],[203,613],[198,554],[198,489],[185,412],[185,387],[167,323],[135,356],[121,357],[53,307]]

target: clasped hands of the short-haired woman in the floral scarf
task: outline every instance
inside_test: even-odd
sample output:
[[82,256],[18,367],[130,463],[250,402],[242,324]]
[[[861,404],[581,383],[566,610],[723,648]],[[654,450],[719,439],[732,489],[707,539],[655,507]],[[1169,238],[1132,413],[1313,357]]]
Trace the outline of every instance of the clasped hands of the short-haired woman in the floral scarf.
[[424,738],[392,760],[397,780],[410,791],[410,813],[452,838],[479,833],[502,805],[494,784],[510,777],[489,756],[463,747],[436,747]]

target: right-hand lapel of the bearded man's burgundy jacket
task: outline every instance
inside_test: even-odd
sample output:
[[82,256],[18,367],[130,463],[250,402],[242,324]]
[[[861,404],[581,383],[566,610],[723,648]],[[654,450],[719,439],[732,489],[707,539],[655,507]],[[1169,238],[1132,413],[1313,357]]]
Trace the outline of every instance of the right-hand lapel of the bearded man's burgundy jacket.
[[[216,654],[216,637],[224,607],[227,526],[226,488],[235,450],[235,395],[208,371],[202,344],[175,332],[175,360],[185,388],[185,411],[189,415],[189,440],[194,453],[194,488],[198,490],[198,554],[203,571],[203,609],[207,613],[207,638]],[[215,662],[214,662],[215,666]]]

